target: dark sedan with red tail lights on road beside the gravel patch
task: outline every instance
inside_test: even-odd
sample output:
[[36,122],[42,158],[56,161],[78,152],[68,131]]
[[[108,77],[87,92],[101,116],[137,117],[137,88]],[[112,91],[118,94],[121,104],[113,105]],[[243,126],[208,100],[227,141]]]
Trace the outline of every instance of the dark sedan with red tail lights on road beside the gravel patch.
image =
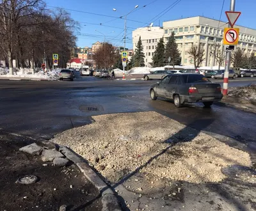
[[157,97],[173,99],[176,107],[185,102],[203,102],[205,107],[210,107],[212,102],[223,97],[221,85],[201,74],[166,75],[161,82],[152,84],[149,92],[152,100]]

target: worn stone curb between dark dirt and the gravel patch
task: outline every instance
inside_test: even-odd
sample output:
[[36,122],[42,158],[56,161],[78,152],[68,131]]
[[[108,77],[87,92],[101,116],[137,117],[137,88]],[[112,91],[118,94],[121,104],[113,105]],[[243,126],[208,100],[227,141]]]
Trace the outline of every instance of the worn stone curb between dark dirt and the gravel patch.
[[67,146],[59,145],[59,152],[63,153],[69,160],[74,162],[84,176],[92,182],[92,184],[99,190],[102,196],[102,211],[121,211],[118,199],[115,196],[115,192],[112,191],[100,177],[93,171],[83,157],[77,155],[75,152],[67,148]]

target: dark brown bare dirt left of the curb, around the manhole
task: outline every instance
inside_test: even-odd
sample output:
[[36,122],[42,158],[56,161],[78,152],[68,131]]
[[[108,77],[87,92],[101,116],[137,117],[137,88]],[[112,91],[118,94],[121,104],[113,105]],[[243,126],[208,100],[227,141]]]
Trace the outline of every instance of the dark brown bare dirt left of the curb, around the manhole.
[[[35,141],[0,132],[1,210],[100,210],[99,192],[73,164],[66,168],[43,162],[40,156],[19,152]],[[43,166],[47,164],[47,166]],[[35,184],[15,183],[20,176],[35,175]],[[72,186],[70,186],[72,185]]]

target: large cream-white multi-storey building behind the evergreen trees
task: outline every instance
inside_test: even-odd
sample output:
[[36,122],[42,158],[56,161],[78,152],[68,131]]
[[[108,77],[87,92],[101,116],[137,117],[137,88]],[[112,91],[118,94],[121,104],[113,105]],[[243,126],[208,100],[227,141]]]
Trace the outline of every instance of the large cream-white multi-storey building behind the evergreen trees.
[[[211,52],[213,52],[215,46],[216,51],[223,51],[222,42],[224,27],[228,27],[227,22],[221,22],[201,16],[170,20],[163,22],[163,28],[151,27],[157,28],[157,30],[154,31],[148,31],[148,27],[134,30],[132,32],[133,48],[135,50],[135,45],[138,42],[138,38],[141,36],[145,52],[145,65],[152,66],[152,53],[154,55],[157,45],[157,43],[152,43],[152,40],[159,40],[159,38],[164,36],[164,42],[166,43],[172,31],[174,31],[180,56],[182,58],[182,65],[193,65],[193,59],[191,59],[188,54],[188,50],[192,46],[200,46],[204,48],[205,60],[201,66],[218,65],[217,61],[213,61],[214,57]],[[234,27],[238,27],[240,29],[239,45],[237,45],[237,47],[243,49],[244,54],[247,55],[255,52],[256,30],[243,26]],[[152,46],[154,46],[154,49],[152,49]],[[225,52],[223,52],[223,54],[225,55]]]

